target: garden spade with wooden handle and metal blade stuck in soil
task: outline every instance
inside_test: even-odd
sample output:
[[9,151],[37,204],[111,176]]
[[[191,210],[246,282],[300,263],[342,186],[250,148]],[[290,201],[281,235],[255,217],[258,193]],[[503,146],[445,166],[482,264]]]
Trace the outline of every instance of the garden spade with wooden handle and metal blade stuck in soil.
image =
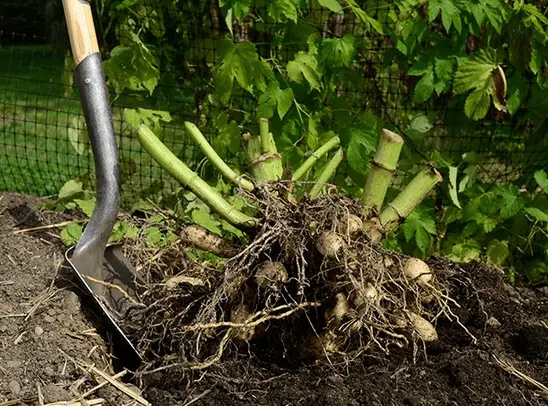
[[120,169],[109,95],[90,4],[63,0],[76,66],[80,101],[95,163],[97,202],[90,221],[65,257],[85,290],[104,313],[108,327],[139,353],[120,327],[120,317],[134,302],[143,281],[124,257],[119,244],[109,244],[120,209]]

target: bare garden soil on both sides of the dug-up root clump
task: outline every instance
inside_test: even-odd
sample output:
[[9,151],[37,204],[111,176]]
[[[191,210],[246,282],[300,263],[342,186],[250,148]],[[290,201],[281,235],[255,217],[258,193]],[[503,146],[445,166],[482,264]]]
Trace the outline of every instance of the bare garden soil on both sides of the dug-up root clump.
[[[49,396],[45,403],[74,399],[74,391],[82,394],[97,380],[60,350],[112,375],[108,337],[68,270],[58,267],[64,248],[57,229],[13,233],[66,218],[32,210],[34,198],[0,199],[0,406],[39,404],[37,383]],[[259,343],[194,376],[172,368],[142,377],[144,397],[162,406],[548,405],[548,391],[535,386],[548,384],[545,291],[514,289],[500,272],[477,264],[451,269],[444,277],[476,343],[460,326],[440,321],[440,339],[415,354],[393,350],[307,366],[267,356]],[[108,385],[96,397],[104,405],[130,404]]]

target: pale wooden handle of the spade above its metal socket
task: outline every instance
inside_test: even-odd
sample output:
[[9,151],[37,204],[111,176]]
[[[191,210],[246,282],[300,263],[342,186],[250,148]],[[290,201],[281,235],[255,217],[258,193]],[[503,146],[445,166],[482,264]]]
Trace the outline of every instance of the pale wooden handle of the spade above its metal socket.
[[99,52],[91,6],[86,0],[63,0],[70,46],[76,66],[87,56]]

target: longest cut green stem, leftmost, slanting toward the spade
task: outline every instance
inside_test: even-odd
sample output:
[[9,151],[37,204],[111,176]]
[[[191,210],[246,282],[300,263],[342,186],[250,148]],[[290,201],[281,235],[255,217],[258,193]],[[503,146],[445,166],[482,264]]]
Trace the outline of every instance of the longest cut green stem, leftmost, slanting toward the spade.
[[236,210],[223,196],[209,186],[200,176],[179,160],[162,141],[144,124],[137,131],[139,142],[152,158],[181,184],[188,187],[209,207],[223,216],[229,223],[253,227],[258,221]]

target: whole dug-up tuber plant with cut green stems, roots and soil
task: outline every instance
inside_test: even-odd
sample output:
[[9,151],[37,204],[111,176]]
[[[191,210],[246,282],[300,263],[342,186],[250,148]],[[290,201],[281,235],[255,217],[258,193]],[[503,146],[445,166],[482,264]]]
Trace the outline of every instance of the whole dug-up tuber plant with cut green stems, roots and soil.
[[[194,124],[185,124],[209,161],[237,186],[251,208],[245,213],[146,125],[138,130],[141,145],[162,168],[247,236],[238,245],[188,226],[182,240],[224,257],[221,265],[174,252],[172,260],[182,264],[171,268],[176,271],[145,275],[139,306],[124,317],[147,360],[143,372],[175,364],[208,368],[241,346],[299,361],[418,349],[437,339],[440,317],[459,323],[458,304],[436,269],[378,244],[442,180],[434,168],[424,168],[385,204],[403,146],[385,129],[363,195],[350,198],[328,184],[344,159],[338,137],[287,175],[268,120],[259,124],[258,135],[242,136],[249,174],[236,173]],[[314,182],[303,182],[322,158],[328,158],[325,169]]]

